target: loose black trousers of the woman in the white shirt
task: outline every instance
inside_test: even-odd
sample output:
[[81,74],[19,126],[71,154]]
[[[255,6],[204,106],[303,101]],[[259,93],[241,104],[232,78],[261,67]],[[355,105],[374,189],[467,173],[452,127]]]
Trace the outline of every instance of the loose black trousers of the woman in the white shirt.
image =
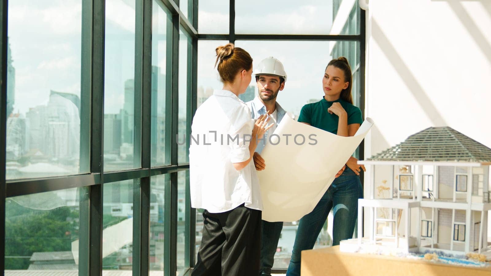
[[203,212],[198,261],[191,276],[259,275],[261,211],[244,204],[224,213]]

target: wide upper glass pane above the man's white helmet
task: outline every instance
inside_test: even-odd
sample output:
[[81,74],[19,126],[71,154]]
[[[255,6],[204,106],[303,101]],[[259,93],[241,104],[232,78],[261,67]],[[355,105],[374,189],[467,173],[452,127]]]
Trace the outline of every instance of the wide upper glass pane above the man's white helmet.
[[[201,2],[200,2],[201,3]],[[357,0],[236,0],[239,34],[359,34]],[[354,20],[352,20],[354,19]]]

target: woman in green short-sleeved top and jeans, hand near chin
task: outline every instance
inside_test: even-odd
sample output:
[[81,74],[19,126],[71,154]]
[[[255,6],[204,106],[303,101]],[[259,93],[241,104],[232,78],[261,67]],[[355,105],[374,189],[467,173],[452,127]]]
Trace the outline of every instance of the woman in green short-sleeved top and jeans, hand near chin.
[[[353,105],[352,83],[346,57],[331,60],[322,79],[324,97],[319,102],[303,106],[298,121],[339,136],[354,136],[363,118],[361,110]],[[360,169],[365,170],[356,162],[354,157],[347,161],[344,171],[336,175],[338,177],[314,210],[300,219],[287,276],[300,275],[300,252],[314,247],[331,209],[334,213],[332,245],[353,237],[358,198],[363,197],[359,172]]]

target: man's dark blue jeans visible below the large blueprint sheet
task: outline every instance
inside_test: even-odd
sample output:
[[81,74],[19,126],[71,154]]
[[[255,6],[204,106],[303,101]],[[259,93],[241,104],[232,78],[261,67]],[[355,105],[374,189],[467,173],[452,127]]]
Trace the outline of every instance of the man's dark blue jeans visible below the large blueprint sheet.
[[283,229],[283,222],[262,221],[261,237],[261,276],[271,275],[271,268],[274,262],[274,253],[278,248],[278,240]]

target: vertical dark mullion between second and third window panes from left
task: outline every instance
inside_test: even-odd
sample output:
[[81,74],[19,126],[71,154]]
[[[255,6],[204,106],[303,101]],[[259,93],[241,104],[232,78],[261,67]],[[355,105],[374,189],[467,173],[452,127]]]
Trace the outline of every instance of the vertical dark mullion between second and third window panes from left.
[[148,276],[150,268],[152,0],[136,0],[135,12],[134,165],[141,166],[147,176],[134,180],[133,275]]

